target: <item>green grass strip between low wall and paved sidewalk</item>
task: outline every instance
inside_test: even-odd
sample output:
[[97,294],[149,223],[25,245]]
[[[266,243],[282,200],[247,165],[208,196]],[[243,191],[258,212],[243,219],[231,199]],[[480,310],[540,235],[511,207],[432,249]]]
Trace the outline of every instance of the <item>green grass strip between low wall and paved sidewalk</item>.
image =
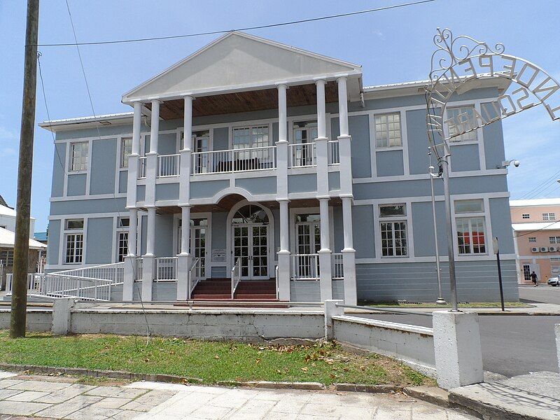
[[84,367],[136,373],[175,374],[217,381],[316,381],[356,384],[422,385],[433,379],[402,363],[370,354],[358,356],[337,344],[279,346],[199,339],[47,333],[10,339],[0,332],[0,363]]

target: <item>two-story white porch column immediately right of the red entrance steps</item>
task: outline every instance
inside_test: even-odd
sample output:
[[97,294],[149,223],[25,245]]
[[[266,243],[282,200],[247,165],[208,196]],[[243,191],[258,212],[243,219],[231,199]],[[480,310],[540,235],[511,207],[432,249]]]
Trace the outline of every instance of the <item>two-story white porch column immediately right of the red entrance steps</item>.
[[280,251],[278,252],[278,297],[290,300],[290,245],[288,219],[288,86],[278,89],[278,141],[276,141],[276,197],[280,206]]

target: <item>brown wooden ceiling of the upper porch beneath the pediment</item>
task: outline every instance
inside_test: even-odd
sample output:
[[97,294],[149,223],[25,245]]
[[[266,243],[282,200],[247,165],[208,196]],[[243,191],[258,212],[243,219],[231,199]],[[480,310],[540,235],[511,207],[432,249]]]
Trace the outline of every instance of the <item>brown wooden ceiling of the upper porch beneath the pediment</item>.
[[[325,85],[325,101],[338,101],[338,88],[335,82]],[[317,103],[316,86],[290,86],[286,94],[289,106],[303,106]],[[151,104],[146,104],[151,109]],[[248,90],[228,94],[197,97],[193,101],[193,117],[216,116],[228,113],[262,111],[278,108],[278,91],[276,89]],[[183,99],[165,101],[160,106],[160,117],[164,120],[183,118]]]

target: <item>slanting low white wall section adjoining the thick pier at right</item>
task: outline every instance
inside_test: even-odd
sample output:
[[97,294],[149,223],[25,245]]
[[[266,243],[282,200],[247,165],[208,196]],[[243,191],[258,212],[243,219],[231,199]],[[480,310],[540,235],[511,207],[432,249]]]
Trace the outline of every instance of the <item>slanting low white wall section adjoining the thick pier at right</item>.
[[335,315],[332,329],[339,342],[398,358],[416,370],[435,375],[432,328]]

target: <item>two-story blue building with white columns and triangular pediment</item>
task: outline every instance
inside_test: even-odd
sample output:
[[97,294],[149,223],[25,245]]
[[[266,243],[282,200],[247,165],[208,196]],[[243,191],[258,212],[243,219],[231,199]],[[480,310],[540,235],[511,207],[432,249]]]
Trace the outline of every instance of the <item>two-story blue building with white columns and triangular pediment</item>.
[[[123,300],[434,301],[425,82],[230,32],[123,95],[53,120],[50,272],[124,263]],[[482,78],[453,113],[507,88]],[[460,301],[517,300],[500,123],[451,146]],[[435,165],[435,160],[431,162]],[[435,179],[444,297],[442,181]],[[188,226],[188,228],[186,228]]]

